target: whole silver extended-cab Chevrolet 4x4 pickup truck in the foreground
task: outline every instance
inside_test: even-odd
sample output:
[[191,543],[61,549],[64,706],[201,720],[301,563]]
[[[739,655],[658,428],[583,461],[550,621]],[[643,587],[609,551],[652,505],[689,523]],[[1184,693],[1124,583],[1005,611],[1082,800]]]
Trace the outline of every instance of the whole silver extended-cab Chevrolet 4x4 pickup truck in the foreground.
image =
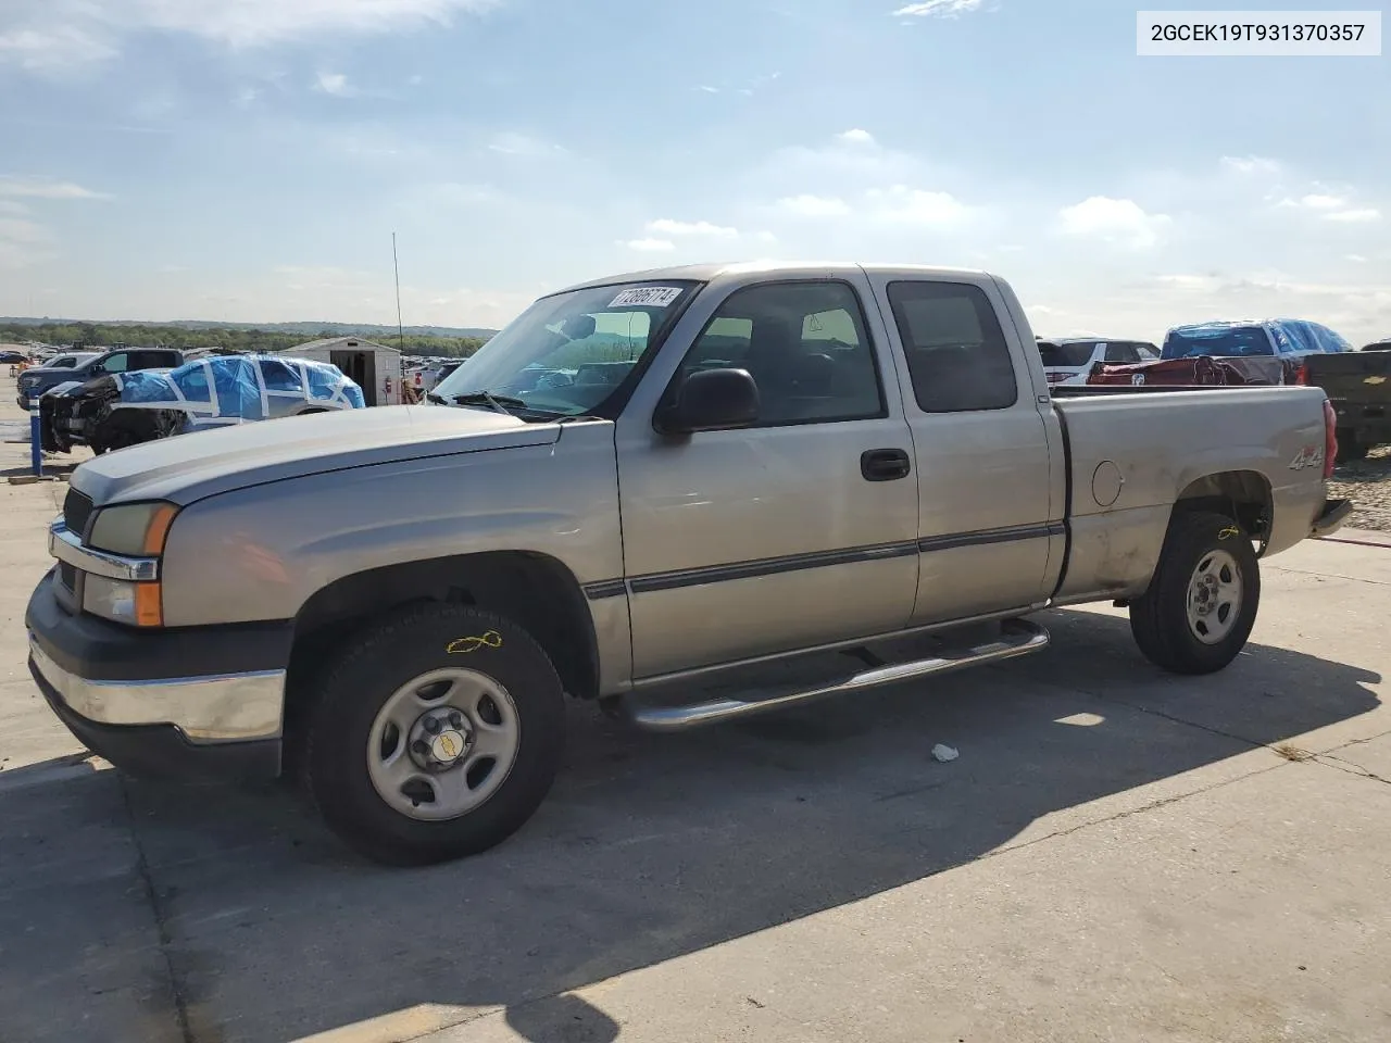
[[435,862],[536,811],[566,695],[683,729],[1027,654],[1029,613],[1095,601],[1209,673],[1257,559],[1351,508],[1320,389],[1050,394],[976,271],[598,280],[431,399],[78,467],[26,613],[72,733],[303,775],[359,851]]

